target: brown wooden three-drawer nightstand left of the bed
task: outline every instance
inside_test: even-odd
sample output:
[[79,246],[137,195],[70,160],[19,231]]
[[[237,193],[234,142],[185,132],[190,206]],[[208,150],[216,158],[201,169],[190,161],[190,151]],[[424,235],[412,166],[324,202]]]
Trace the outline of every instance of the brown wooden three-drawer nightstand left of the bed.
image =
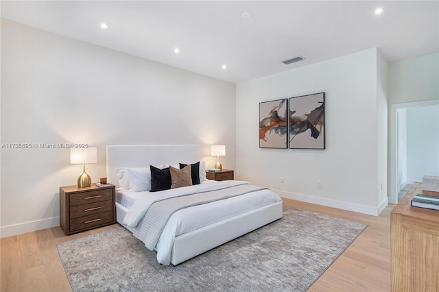
[[116,223],[115,186],[60,187],[60,226],[69,235]]

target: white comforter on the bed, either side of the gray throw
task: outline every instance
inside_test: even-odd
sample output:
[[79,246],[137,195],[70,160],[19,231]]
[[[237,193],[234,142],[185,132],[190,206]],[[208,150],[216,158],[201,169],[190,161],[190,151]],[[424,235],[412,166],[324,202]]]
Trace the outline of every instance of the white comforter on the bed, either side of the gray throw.
[[[123,224],[132,228],[134,236],[145,242],[143,228],[145,228],[147,223],[143,221],[143,217],[147,209],[150,208],[156,200],[179,195],[189,195],[191,193],[213,191],[220,188],[237,186],[239,184],[248,184],[248,182],[226,180],[154,193],[145,192],[145,195],[142,195],[134,202],[132,208],[130,208],[126,217],[123,219]],[[209,195],[209,193],[206,193],[206,195]],[[158,263],[169,265],[171,250],[176,236],[279,201],[281,201],[281,198],[276,195],[276,193],[268,189],[263,189],[209,204],[178,210],[169,218],[169,221],[167,221],[165,229],[156,245],[155,250],[157,250]]]

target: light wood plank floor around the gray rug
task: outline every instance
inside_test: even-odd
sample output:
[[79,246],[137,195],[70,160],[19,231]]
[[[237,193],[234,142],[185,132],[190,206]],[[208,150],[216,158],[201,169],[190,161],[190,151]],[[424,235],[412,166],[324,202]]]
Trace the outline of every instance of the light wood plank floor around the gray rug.
[[[390,210],[379,217],[284,199],[284,204],[368,224],[308,291],[390,291]],[[66,236],[60,227],[0,240],[1,291],[71,291],[56,244],[118,228]]]

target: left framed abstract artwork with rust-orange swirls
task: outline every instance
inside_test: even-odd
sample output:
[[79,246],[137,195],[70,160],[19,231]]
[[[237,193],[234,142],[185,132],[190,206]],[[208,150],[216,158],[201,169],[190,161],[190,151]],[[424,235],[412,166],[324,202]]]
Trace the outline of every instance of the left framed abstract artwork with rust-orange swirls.
[[259,103],[259,148],[288,148],[288,99]]

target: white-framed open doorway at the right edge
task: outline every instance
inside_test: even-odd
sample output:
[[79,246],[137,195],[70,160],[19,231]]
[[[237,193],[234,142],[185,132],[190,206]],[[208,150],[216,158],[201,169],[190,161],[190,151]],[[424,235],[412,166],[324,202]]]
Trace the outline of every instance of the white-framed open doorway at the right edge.
[[389,203],[396,204],[407,185],[439,175],[439,100],[391,105],[389,151]]

